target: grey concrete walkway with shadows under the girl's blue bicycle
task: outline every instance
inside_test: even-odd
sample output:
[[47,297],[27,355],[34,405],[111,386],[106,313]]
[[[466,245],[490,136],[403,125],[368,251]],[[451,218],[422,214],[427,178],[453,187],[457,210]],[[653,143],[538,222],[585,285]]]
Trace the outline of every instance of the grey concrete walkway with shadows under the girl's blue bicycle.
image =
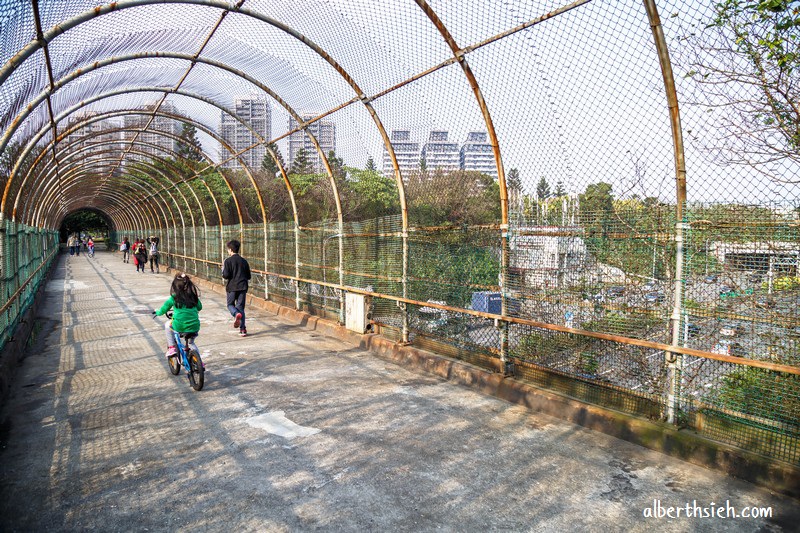
[[[39,340],[0,419],[0,530],[800,524],[795,500],[409,372],[258,310],[241,339],[210,291],[198,339],[207,381],[194,392],[167,370],[163,322],[139,314],[163,302],[170,281],[137,274],[118,254],[60,259]],[[683,514],[687,503],[709,514],[712,502],[771,507],[772,518],[646,518],[654,500]]]

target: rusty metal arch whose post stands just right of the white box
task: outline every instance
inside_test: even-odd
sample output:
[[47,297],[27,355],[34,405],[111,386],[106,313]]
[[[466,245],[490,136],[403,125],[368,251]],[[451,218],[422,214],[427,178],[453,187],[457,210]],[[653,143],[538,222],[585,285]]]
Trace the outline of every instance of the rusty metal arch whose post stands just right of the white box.
[[[299,32],[293,30],[289,26],[261,13],[257,13],[255,11],[245,9],[241,7],[241,4],[237,4],[235,6],[231,6],[230,4],[224,4],[216,0],[175,0],[172,2],[164,2],[163,0],[122,0],[121,2],[109,4],[106,6],[100,6],[95,8],[92,11],[86,11],[80,15],[77,15],[62,24],[54,26],[51,30],[46,32],[42,35],[42,38],[38,41],[34,40],[31,41],[27,46],[25,46],[22,50],[20,50],[14,57],[8,60],[8,62],[0,69],[0,85],[8,78],[8,76],[13,72],[22,62],[24,62],[30,55],[33,54],[39,47],[45,46],[50,41],[55,39],[60,34],[68,31],[79,24],[82,24],[86,21],[89,21],[93,18],[99,17],[101,15],[110,13],[112,11],[127,9],[131,7],[139,7],[145,6],[150,4],[156,3],[176,3],[176,4],[193,4],[193,5],[204,5],[208,7],[216,7],[225,12],[234,12],[239,13],[245,16],[249,16],[256,20],[260,20],[266,24],[269,24],[279,30],[287,33],[288,35],[294,37],[305,46],[311,48],[317,55],[319,55],[325,62],[327,62],[344,80],[345,82],[353,89],[356,94],[356,97],[362,102],[362,104],[366,107],[367,111],[369,112],[370,116],[373,119],[378,131],[383,138],[384,147],[387,150],[387,154],[389,155],[392,166],[395,170],[395,183],[398,188],[398,195],[400,198],[400,207],[401,207],[401,218],[402,218],[402,225],[403,225],[403,296],[407,296],[407,277],[408,277],[408,208],[406,204],[406,194],[405,194],[405,185],[403,183],[402,174],[400,171],[399,164],[397,162],[397,157],[394,153],[394,148],[389,140],[389,136],[386,133],[386,129],[383,126],[378,113],[371,105],[371,101],[367,96],[365,96],[364,92],[358,86],[358,84],[353,80],[353,78],[347,73],[347,71],[339,65],[325,50],[323,50],[320,46],[316,43],[305,37],[304,35],[300,34]],[[199,54],[198,54],[199,56]],[[303,123],[304,127],[307,126],[310,122]],[[327,158],[323,158],[323,161],[327,161]],[[2,211],[0,211],[0,216],[2,216]],[[341,232],[340,232],[341,233]],[[342,257],[341,248],[343,246],[342,239],[339,239],[340,242],[340,258]],[[340,269],[341,275],[341,269]],[[298,289],[299,291],[299,289]],[[299,301],[299,292],[297,294],[297,299]],[[408,342],[408,316],[405,313],[404,309],[404,318],[403,318],[403,342]]]

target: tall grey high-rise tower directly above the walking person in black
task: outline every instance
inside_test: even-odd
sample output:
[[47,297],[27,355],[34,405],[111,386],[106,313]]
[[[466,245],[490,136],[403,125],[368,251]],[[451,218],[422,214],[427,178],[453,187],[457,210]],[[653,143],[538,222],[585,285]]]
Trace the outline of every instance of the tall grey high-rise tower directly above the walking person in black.
[[[259,97],[237,98],[234,101],[234,112],[260,135],[261,139],[269,140],[272,138],[272,112],[269,103],[265,99]],[[220,135],[236,153],[257,145],[241,154],[238,158],[226,161],[222,165],[223,168],[241,168],[240,160],[251,170],[261,168],[267,148],[261,144],[261,139],[250,131],[245,124],[242,124],[236,117],[224,111],[220,114]],[[221,147],[221,154],[225,159],[232,155],[225,147]]]

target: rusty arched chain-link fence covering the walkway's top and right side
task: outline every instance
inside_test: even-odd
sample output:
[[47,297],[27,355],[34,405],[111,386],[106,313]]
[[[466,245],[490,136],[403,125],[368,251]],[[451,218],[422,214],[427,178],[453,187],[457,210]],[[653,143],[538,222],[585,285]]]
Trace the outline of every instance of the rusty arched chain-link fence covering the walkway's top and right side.
[[798,464],[800,6],[766,4],[13,0],[0,208],[217,281],[235,238],[258,296]]

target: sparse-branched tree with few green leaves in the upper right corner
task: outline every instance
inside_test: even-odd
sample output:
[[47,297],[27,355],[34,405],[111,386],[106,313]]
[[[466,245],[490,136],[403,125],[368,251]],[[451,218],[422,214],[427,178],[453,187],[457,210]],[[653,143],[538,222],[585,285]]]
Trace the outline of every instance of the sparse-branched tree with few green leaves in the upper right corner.
[[686,77],[718,113],[718,138],[708,148],[723,163],[787,181],[773,169],[800,162],[800,3],[722,0],[686,39],[693,45]]

